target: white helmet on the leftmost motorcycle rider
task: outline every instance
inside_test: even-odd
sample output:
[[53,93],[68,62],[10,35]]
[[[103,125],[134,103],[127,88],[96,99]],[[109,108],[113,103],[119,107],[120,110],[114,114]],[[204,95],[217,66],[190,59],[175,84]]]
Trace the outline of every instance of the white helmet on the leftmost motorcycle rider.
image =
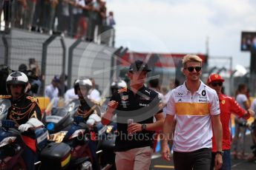
[[24,86],[24,92],[27,92],[28,78],[23,72],[12,72],[6,79],[7,92],[10,93],[10,85],[22,84]]

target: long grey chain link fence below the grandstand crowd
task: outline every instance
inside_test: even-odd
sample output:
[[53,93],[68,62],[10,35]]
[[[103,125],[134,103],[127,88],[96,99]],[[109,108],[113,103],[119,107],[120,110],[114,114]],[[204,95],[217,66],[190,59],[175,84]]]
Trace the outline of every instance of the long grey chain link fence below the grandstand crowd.
[[[79,77],[94,78],[104,92],[111,80],[111,57],[116,49],[82,40],[63,38],[12,29],[10,34],[0,33],[0,64],[18,70],[21,64],[29,68],[30,59],[39,65],[44,94],[54,75],[69,75],[68,87]],[[108,91],[108,90],[107,90]]]

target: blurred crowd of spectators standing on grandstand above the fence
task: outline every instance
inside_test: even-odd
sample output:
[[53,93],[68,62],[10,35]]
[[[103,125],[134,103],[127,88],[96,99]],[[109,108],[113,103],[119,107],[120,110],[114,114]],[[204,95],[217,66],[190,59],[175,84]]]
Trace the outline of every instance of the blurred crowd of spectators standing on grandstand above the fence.
[[[114,13],[102,0],[0,0],[5,29],[18,27],[40,33],[63,33],[94,41],[114,28]],[[114,33],[112,33],[114,34]],[[103,35],[101,43],[108,41]]]

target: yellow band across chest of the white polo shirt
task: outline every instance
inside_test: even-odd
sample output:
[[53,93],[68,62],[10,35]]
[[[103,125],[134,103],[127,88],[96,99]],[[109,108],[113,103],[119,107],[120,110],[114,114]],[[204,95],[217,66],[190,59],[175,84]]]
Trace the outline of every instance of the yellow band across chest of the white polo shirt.
[[209,103],[175,103],[177,115],[209,115]]

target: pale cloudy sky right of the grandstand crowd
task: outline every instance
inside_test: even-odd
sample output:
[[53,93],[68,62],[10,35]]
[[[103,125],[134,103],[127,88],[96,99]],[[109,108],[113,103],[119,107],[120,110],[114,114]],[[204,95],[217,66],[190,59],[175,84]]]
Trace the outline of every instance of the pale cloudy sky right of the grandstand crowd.
[[256,31],[256,1],[106,1],[116,20],[116,47],[136,52],[206,53],[209,37],[211,56],[232,57],[233,68],[237,64],[249,67],[249,52],[240,52],[240,34]]

